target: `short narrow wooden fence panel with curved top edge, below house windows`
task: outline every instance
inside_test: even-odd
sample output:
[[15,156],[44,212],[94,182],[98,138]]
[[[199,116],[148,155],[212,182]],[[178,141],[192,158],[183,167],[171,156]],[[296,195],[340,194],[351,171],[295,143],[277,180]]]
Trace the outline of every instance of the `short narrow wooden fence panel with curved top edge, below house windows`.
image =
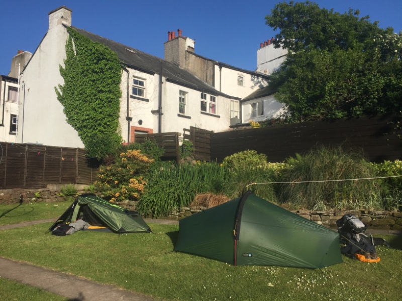
[[190,126],[183,129],[183,138],[191,141],[194,146],[194,159],[211,161],[211,133],[213,131]]

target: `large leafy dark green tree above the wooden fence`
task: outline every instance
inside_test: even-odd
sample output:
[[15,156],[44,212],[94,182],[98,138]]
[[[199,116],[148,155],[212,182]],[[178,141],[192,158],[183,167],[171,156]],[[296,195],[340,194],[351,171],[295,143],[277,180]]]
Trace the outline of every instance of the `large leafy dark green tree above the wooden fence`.
[[401,36],[359,11],[339,14],[312,2],[275,5],[266,24],[288,49],[270,89],[290,122],[401,110]]

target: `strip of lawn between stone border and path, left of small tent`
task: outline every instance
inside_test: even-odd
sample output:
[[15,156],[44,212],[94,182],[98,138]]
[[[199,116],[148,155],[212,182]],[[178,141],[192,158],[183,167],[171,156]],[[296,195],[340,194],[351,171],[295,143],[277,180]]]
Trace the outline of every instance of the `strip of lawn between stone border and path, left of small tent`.
[[48,218],[58,218],[72,202],[37,202],[0,205],[0,226]]

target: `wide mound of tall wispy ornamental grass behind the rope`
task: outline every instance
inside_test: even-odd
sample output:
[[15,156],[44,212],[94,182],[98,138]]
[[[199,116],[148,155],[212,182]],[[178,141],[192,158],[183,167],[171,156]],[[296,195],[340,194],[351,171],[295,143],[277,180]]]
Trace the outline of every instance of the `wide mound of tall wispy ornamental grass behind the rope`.
[[381,208],[381,181],[337,181],[376,176],[361,153],[341,145],[321,145],[286,163],[289,168],[283,171],[283,182],[315,183],[281,184],[278,197],[282,203],[310,210]]

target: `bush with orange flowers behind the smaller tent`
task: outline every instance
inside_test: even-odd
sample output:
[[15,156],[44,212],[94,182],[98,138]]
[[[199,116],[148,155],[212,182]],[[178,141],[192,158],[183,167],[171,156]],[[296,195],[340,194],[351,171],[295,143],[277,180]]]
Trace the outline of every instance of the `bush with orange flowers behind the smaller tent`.
[[145,176],[154,159],[139,149],[129,149],[109,166],[101,166],[94,183],[99,192],[111,197],[111,202],[137,201],[147,184]]

